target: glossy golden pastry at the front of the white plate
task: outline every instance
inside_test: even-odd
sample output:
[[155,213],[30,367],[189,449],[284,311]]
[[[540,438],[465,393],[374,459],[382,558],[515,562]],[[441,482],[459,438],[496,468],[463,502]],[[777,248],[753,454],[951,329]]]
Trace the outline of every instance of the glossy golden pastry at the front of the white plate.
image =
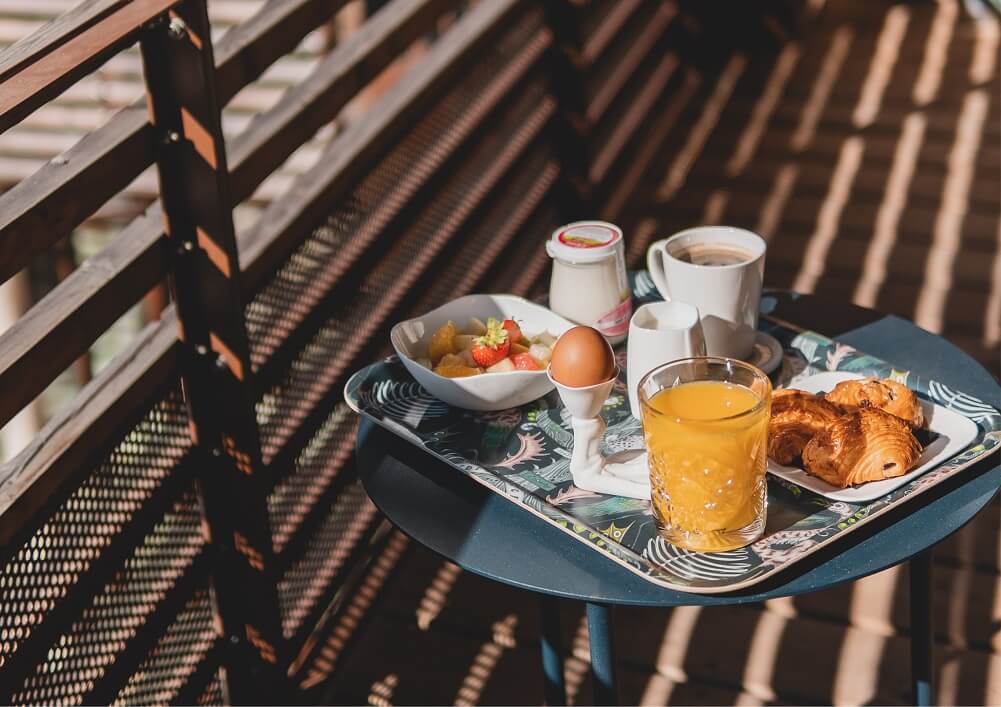
[[803,468],[844,489],[907,473],[921,457],[910,426],[876,408],[860,408],[818,433],[803,450]]

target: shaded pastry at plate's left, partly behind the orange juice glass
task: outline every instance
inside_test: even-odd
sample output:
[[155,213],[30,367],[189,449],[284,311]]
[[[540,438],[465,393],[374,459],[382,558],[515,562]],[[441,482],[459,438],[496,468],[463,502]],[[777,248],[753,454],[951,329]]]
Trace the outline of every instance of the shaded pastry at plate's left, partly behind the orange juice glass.
[[838,408],[812,393],[776,391],[768,422],[768,456],[779,464],[795,463],[811,438],[841,415]]

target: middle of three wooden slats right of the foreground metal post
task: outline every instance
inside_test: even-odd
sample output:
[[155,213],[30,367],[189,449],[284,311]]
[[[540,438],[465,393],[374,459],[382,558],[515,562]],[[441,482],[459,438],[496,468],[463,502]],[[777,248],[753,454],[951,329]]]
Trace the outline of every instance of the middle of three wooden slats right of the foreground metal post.
[[233,197],[242,201],[411,42],[449,0],[393,0],[233,140]]

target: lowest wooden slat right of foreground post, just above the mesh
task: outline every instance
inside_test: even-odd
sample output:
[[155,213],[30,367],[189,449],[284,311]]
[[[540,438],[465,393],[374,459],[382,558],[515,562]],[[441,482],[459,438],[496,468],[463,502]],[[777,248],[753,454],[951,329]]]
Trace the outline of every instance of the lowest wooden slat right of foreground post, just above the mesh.
[[519,0],[494,0],[472,8],[390,89],[378,114],[352,125],[329,159],[298,179],[285,198],[270,204],[240,243],[245,291],[254,292],[262,286],[265,277],[319,222],[337,194],[355,183],[391,144],[396,131],[464,69],[465,61],[503,31],[520,4]]

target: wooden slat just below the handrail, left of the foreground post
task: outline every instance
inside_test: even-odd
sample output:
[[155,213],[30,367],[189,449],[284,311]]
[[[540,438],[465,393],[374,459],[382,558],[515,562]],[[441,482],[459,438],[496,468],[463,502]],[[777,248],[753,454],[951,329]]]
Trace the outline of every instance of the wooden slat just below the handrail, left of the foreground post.
[[126,108],[119,116],[122,134],[94,133],[0,196],[0,282],[152,164],[154,135],[145,109]]

